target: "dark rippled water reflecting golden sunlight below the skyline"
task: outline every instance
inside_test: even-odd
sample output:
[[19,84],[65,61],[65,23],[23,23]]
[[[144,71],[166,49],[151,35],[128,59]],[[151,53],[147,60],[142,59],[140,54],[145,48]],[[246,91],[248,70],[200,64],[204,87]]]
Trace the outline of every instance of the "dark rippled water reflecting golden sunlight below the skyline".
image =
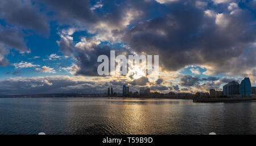
[[256,134],[256,102],[0,98],[0,134]]

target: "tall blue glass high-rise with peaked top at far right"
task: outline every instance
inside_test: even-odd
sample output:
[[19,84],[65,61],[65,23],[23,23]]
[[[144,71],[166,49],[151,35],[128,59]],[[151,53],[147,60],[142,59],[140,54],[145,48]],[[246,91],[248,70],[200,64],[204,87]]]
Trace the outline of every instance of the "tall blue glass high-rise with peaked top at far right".
[[250,97],[251,96],[251,81],[249,77],[243,78],[240,84],[240,94],[242,97]]

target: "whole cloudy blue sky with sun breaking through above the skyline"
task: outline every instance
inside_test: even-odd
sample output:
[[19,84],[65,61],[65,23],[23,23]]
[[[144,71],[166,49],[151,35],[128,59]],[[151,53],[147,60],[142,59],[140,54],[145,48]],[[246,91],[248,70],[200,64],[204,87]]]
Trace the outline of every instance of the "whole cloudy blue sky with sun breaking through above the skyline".
[[[159,55],[159,78],[99,76],[110,50]],[[255,55],[256,0],[0,1],[0,95],[256,86]]]

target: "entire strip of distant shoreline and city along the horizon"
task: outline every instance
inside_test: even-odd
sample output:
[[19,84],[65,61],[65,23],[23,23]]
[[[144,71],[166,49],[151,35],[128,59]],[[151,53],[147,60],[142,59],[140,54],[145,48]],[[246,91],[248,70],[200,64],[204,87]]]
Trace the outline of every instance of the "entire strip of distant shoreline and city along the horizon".
[[239,97],[255,97],[256,87],[251,86],[250,78],[245,77],[241,83],[231,81],[223,86],[223,90],[210,89],[209,92],[192,93],[160,93],[158,91],[150,91],[149,87],[140,87],[138,91],[129,91],[129,86],[122,86],[122,93],[117,93],[112,87],[108,87],[105,93],[82,94],[82,93],[56,93],[56,94],[34,94],[34,95],[5,95],[0,97],[133,97],[133,98],[187,98],[193,99],[197,97],[203,98],[239,98]]

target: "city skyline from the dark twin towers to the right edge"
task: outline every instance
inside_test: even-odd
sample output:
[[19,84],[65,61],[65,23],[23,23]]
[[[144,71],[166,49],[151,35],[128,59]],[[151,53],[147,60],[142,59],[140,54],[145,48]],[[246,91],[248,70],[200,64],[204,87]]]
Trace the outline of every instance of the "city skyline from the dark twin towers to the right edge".
[[[111,88],[111,94],[110,94],[110,88]],[[200,92],[197,91],[196,93],[159,93],[158,91],[150,91],[149,87],[139,87],[139,90],[135,91],[134,93],[132,91],[129,91],[129,86],[123,85],[122,86],[122,93],[113,93],[113,88],[108,87],[108,97],[154,97],[155,94],[160,95],[160,97],[167,97],[167,96],[174,96],[178,95],[179,97],[192,97],[192,96],[198,96],[198,97],[255,97],[256,87],[251,86],[250,78],[245,77],[239,84],[237,81],[230,81],[228,84],[223,86],[222,91],[218,91],[215,89],[210,89],[209,92]],[[192,95],[192,96],[191,96]]]

